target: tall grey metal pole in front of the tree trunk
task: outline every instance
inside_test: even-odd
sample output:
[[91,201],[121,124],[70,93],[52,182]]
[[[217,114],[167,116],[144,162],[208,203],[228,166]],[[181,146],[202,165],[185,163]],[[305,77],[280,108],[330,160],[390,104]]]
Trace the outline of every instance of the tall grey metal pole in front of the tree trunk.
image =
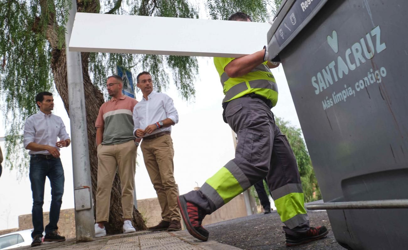
[[75,197],[75,228],[77,241],[92,241],[95,238],[91,168],[89,164],[88,133],[86,127],[84,82],[80,52],[69,52],[73,22],[76,13],[76,0],[67,0],[69,20],[65,33],[67,53],[67,80],[69,118],[71,121],[72,168]]

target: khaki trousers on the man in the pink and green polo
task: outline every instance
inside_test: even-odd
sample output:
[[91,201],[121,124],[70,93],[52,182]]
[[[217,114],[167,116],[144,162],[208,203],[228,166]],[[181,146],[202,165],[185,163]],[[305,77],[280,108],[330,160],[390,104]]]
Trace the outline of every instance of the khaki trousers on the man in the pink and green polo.
[[122,144],[98,146],[98,186],[96,189],[96,222],[109,221],[111,190],[116,169],[122,188],[123,218],[133,218],[137,147],[133,140]]

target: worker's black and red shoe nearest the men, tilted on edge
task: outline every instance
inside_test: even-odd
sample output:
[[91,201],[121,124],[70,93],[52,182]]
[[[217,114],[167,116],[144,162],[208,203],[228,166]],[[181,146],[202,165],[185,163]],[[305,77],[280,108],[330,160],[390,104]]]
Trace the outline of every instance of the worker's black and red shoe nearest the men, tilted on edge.
[[208,231],[201,226],[202,220],[206,216],[204,210],[184,198],[184,195],[177,197],[177,203],[188,232],[201,241],[208,240]]

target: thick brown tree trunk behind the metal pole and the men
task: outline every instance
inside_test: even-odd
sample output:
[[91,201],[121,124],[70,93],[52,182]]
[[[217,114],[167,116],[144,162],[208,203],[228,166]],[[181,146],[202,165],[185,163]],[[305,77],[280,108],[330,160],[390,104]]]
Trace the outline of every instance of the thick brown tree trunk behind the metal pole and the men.
[[[82,6],[83,7],[83,6]],[[78,4],[78,11],[81,5]],[[95,11],[86,12],[95,12]],[[96,10],[96,8],[95,8]],[[67,58],[65,52],[65,46],[58,49],[55,44],[56,36],[49,35],[48,39],[52,46],[52,60],[51,69],[54,76],[55,86],[64,102],[65,109],[69,115],[68,106],[68,84],[67,84]],[[100,106],[104,103],[102,92],[97,86],[93,85],[89,77],[88,64],[89,53],[81,53],[82,57],[82,75],[84,80],[84,93],[85,93],[85,107],[86,107],[86,126],[88,131],[88,144],[89,144],[89,162],[91,165],[91,181],[92,181],[92,196],[94,204],[94,213],[96,209],[96,185],[98,174],[98,157],[96,150],[96,129],[95,121],[98,117]],[[73,142],[75,145],[75,142]],[[75,157],[75,156],[73,156]],[[109,212],[109,223],[106,223],[106,232],[108,234],[122,233],[122,199],[121,199],[121,187],[118,172],[116,172],[115,179],[113,181],[113,187],[111,192],[111,206]],[[146,230],[146,224],[143,221],[142,215],[133,207],[133,226],[137,230]]]

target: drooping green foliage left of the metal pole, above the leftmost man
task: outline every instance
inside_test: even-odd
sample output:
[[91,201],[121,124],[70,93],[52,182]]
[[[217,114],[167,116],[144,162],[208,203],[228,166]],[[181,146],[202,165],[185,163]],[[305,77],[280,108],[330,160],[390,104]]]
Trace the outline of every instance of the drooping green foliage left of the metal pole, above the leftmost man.
[[[7,117],[5,155],[10,168],[22,171],[26,165],[20,159],[22,151],[27,152],[18,150],[22,145],[24,120],[38,110],[33,101],[35,94],[39,90],[50,91],[52,87],[47,24],[38,16],[55,18],[55,10],[61,8],[62,4],[54,7],[52,1],[46,1],[43,8],[17,0],[0,2],[0,93],[4,101],[2,111]],[[64,30],[58,32],[55,35],[63,37]]]

